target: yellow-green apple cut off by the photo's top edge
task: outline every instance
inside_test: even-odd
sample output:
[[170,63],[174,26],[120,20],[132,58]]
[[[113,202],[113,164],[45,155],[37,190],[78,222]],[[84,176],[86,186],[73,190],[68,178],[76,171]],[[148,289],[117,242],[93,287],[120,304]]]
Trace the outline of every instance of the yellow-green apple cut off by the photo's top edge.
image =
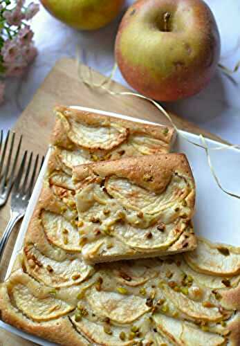
[[125,0],[40,0],[54,17],[81,30],[95,30],[110,23]]

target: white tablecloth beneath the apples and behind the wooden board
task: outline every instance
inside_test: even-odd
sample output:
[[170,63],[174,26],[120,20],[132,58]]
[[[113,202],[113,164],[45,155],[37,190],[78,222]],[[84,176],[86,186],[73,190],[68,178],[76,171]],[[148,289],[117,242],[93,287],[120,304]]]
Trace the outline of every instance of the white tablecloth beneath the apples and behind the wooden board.
[[[132,2],[128,0],[128,3]],[[221,63],[232,69],[240,60],[240,1],[206,2],[214,12],[221,34]],[[120,17],[101,30],[80,32],[60,23],[41,7],[32,22],[39,55],[23,78],[8,80],[6,101],[0,106],[0,128],[14,125],[55,61],[59,57],[75,57],[76,44],[84,48],[85,62],[104,74],[109,73],[113,66],[113,46],[119,21]],[[127,85],[119,71],[115,79]],[[240,143],[239,95],[240,71],[234,74],[234,81],[217,71],[201,93],[187,100],[169,103],[167,107],[237,144]]]

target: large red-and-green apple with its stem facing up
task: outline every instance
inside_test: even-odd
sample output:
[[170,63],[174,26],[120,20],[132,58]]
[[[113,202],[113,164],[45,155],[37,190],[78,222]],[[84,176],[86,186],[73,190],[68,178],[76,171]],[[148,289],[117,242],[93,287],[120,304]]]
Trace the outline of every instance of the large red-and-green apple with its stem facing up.
[[115,53],[133,89],[155,100],[179,100],[214,75],[219,30],[202,0],[139,0],[122,19]]

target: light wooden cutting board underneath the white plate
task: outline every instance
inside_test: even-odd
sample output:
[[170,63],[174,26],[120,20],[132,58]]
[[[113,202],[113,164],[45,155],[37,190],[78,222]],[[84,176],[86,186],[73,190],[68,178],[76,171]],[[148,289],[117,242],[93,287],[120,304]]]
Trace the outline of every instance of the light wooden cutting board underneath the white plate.
[[[82,69],[86,73],[86,66],[82,66]],[[103,76],[93,71],[93,78],[96,83],[99,83],[102,81]],[[127,91],[124,86],[116,82],[111,82],[111,89],[114,91]],[[169,124],[165,116],[150,102],[140,100],[133,96],[113,96],[100,89],[90,89],[85,86],[78,78],[75,61],[62,59],[50,71],[33,100],[28,104],[28,107],[21,114],[15,125],[14,129],[17,135],[24,135],[23,149],[29,149],[43,155],[46,153],[50,131],[54,122],[52,109],[56,104],[81,105],[104,111],[123,113],[162,124]],[[185,129],[194,134],[203,134],[208,138],[223,142],[221,138],[200,129],[193,123],[183,120],[183,118],[172,114],[172,119],[180,129]],[[0,211],[0,234],[6,227],[9,212],[8,202],[7,206]],[[17,228],[4,253],[3,262],[0,267],[1,280],[3,280],[6,273],[16,237]],[[0,329],[0,345],[25,346],[34,344]]]

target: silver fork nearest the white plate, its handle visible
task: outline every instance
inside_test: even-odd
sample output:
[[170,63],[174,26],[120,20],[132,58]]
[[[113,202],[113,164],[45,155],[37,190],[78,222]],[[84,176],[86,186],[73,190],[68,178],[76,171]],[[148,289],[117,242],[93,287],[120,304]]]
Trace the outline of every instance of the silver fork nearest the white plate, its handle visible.
[[44,157],[41,160],[40,167],[38,167],[39,155],[37,155],[34,160],[33,152],[31,152],[29,158],[28,152],[26,151],[24,153],[24,157],[22,158],[21,165],[17,173],[17,178],[15,179],[15,183],[12,187],[10,221],[8,222],[8,226],[6,227],[0,241],[0,261],[12,229],[17,221],[24,217],[26,208],[28,206],[28,201],[35,185],[36,174],[39,172],[39,170],[41,170],[41,165],[43,162]]

